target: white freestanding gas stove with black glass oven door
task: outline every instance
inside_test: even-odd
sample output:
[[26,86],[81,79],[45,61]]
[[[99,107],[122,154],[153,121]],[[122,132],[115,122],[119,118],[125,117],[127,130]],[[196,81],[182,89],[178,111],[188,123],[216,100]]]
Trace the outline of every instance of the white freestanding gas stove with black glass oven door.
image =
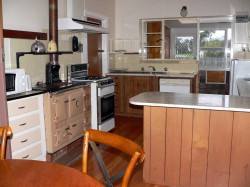
[[114,80],[110,77],[88,76],[87,64],[68,66],[68,82],[91,84],[91,127],[110,131],[115,127]]

